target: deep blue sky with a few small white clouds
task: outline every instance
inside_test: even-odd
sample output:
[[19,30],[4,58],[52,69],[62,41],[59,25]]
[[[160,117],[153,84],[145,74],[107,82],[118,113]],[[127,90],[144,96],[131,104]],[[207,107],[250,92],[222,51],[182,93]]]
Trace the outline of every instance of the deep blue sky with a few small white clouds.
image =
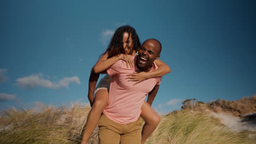
[[153,108],[256,94],[254,1],[1,1],[0,104],[88,103],[90,70],[115,29],[162,43]]

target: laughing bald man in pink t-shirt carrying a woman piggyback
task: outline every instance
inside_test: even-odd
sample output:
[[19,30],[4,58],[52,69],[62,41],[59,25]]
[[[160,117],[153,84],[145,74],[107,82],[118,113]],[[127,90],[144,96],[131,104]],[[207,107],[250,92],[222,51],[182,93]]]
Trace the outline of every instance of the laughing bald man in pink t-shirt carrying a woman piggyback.
[[[107,73],[112,76],[108,106],[98,123],[99,140],[105,143],[141,143],[141,106],[147,94],[154,99],[158,92],[161,77],[144,80],[137,85],[127,81],[126,76],[134,70],[152,71],[157,69],[154,60],[160,57],[161,44],[148,39],[135,57],[135,68],[126,68],[126,62],[118,61]],[[153,101],[153,100],[152,100]]]

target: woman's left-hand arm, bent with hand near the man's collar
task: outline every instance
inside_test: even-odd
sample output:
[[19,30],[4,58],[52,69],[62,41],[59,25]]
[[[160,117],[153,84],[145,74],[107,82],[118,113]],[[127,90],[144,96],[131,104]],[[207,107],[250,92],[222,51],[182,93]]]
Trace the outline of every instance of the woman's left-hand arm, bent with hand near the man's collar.
[[117,56],[108,58],[108,52],[106,52],[95,64],[94,73],[101,73],[120,59],[126,61],[126,67],[130,66],[131,68],[134,68],[135,63],[131,55],[119,54]]

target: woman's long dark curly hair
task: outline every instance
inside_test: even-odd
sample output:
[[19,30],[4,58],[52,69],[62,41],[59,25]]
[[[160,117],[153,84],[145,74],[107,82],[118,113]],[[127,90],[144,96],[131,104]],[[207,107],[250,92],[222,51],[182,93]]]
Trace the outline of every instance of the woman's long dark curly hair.
[[[141,43],[139,42],[139,38],[135,29],[131,26],[121,26],[115,31],[108,45],[108,48],[106,50],[106,52],[108,52],[108,58],[117,56],[120,53],[125,53],[125,50],[123,47],[123,34],[125,32],[129,33],[129,37],[127,38],[127,40],[129,40],[130,37],[132,38],[133,50],[135,52],[139,49],[139,47],[141,47]],[[127,54],[131,55],[132,51]]]

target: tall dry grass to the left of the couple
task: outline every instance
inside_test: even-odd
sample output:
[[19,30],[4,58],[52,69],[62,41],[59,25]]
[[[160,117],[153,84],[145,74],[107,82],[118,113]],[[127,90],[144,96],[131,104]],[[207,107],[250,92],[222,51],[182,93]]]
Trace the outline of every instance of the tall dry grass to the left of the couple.
[[78,143],[89,107],[38,105],[39,109],[4,111],[0,143]]

